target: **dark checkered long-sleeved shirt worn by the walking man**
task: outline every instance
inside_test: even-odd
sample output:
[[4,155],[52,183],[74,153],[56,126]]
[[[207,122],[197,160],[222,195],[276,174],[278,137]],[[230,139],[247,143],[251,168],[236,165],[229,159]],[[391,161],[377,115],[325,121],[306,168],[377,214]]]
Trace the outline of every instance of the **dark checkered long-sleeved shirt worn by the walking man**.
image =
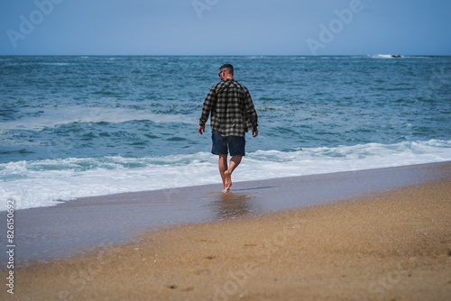
[[258,118],[253,99],[246,87],[234,78],[221,80],[211,87],[202,106],[199,125],[207,123],[211,112],[211,129],[223,136],[244,136],[257,131]]

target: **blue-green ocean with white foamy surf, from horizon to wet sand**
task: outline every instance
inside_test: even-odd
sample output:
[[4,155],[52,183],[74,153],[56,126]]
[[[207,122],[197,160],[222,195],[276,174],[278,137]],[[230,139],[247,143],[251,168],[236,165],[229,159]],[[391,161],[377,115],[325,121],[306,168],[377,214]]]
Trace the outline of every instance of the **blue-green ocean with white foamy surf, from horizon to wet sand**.
[[198,118],[225,63],[259,115],[234,181],[451,160],[451,57],[0,57],[0,210],[220,190]]

